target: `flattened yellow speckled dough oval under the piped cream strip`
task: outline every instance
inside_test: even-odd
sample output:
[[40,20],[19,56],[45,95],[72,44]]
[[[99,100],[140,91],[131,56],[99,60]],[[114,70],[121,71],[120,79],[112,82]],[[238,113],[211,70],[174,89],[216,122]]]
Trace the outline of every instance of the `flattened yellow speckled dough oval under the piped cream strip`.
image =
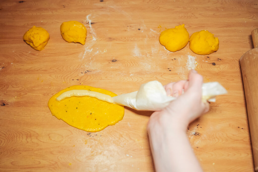
[[115,93],[86,85],[74,85],[63,89],[49,99],[48,106],[53,116],[67,124],[87,132],[101,131],[109,125],[115,125],[124,117],[124,107],[98,100],[93,97],[70,97],[57,101],[56,98],[69,90],[90,90],[111,97]]

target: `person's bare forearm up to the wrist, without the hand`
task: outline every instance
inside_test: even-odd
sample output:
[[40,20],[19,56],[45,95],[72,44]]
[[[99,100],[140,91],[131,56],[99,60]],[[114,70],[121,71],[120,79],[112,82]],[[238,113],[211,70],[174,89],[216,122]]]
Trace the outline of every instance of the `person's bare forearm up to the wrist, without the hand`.
[[186,132],[176,127],[169,131],[157,133],[150,129],[148,132],[156,171],[202,171]]

